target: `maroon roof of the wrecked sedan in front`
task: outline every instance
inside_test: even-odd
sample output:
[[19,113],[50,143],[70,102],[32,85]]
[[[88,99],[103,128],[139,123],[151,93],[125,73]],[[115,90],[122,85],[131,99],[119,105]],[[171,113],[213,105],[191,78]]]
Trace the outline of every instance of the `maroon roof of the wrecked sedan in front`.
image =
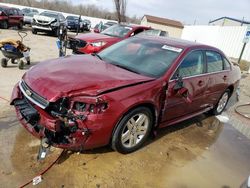
[[205,44],[201,44],[201,43],[197,43],[197,42],[192,42],[192,41],[188,41],[188,40],[183,40],[183,39],[172,38],[172,37],[149,36],[149,35],[136,35],[134,37],[143,38],[145,40],[158,41],[158,42],[165,43],[165,44],[168,44],[170,46],[174,46],[174,47],[178,47],[178,48],[182,48],[182,49],[209,48],[209,49],[213,49],[216,51],[220,51],[219,49],[212,47],[212,46],[209,46],[209,45],[205,45]]

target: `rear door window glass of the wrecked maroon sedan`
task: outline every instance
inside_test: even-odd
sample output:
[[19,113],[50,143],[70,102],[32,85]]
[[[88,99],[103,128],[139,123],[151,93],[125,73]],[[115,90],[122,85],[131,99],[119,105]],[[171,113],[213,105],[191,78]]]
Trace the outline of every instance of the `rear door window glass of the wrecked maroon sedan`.
[[207,51],[207,72],[218,72],[223,70],[223,61],[222,57],[218,52]]

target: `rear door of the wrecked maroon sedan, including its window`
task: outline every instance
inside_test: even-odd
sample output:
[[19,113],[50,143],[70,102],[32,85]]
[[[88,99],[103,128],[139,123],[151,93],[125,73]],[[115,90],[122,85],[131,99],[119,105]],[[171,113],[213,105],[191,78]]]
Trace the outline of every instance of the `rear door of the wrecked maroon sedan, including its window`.
[[228,87],[231,67],[219,52],[212,50],[206,51],[206,64],[209,75],[207,100],[211,105],[215,105]]

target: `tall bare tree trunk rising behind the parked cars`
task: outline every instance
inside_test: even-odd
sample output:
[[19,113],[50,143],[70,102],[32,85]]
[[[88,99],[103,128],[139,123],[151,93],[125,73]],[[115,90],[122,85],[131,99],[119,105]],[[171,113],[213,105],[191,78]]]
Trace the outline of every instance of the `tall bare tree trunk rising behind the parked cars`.
[[127,0],[114,0],[118,23],[126,22]]

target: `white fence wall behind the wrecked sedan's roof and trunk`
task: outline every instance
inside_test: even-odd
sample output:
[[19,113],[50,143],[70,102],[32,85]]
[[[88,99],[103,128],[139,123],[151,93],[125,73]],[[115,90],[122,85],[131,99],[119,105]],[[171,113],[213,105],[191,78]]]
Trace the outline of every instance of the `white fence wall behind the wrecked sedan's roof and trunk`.
[[[185,26],[181,38],[217,47],[228,57],[239,58],[246,30],[247,26]],[[242,59],[250,61],[250,42]]]

